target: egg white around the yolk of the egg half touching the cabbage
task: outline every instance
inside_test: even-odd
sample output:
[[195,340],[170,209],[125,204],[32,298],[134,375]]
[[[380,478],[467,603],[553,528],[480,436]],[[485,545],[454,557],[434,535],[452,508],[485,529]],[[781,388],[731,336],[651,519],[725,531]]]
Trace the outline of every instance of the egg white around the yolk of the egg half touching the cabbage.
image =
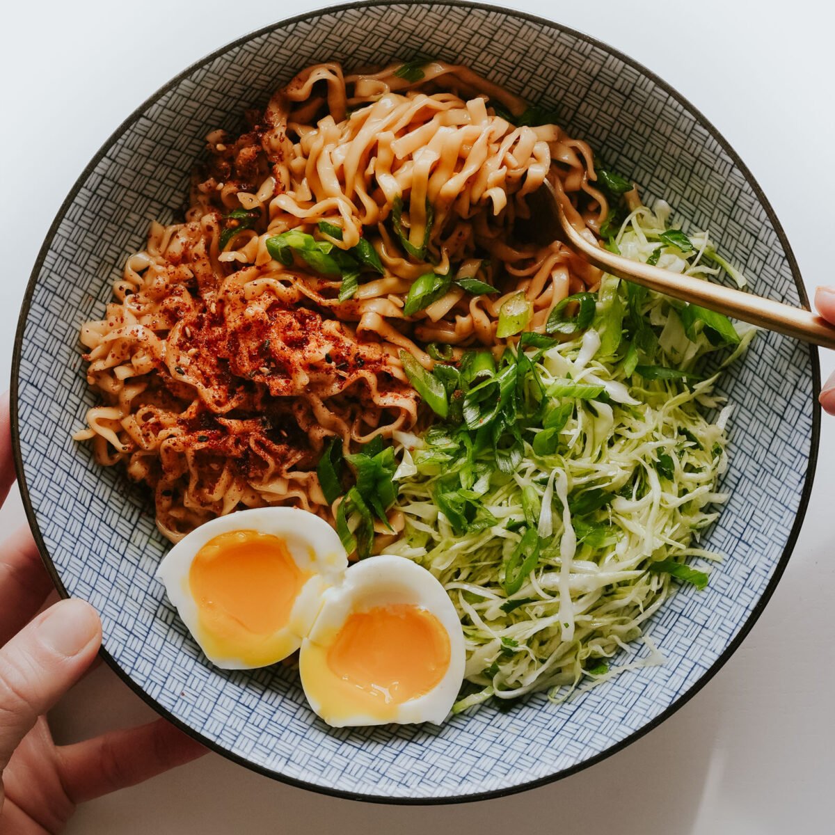
[[[414,605],[427,610],[447,632],[450,657],[443,678],[423,696],[397,705],[393,716],[374,716],[371,713],[345,716],[331,711],[327,706],[327,694],[318,691],[327,675],[333,675],[326,673],[325,678],[322,678],[321,665],[327,648],[336,640],[339,630],[353,613],[398,604]],[[463,681],[464,662],[461,622],[443,585],[427,569],[412,560],[381,554],[352,565],[347,569],[342,584],[325,591],[316,622],[301,644],[299,672],[307,701],[316,714],[331,726],[425,721],[440,725],[447,718],[458,696]]]

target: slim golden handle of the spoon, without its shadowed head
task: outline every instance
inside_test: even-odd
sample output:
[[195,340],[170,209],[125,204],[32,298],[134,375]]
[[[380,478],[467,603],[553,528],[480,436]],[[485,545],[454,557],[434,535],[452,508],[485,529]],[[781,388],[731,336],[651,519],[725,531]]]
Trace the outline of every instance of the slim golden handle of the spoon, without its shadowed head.
[[690,301],[708,310],[751,322],[751,325],[784,333],[787,337],[795,337],[825,348],[835,348],[835,326],[811,311],[615,255],[614,252],[585,240],[571,225],[561,207],[559,222],[572,249],[583,256],[585,261],[613,276],[634,281],[635,284],[681,301]]

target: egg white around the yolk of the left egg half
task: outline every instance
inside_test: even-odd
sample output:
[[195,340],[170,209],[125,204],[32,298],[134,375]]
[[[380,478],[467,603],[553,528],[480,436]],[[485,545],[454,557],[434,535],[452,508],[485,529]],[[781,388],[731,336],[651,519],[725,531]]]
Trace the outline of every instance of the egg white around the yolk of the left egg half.
[[299,649],[301,640],[319,614],[326,590],[342,579],[348,564],[336,531],[324,519],[296,508],[240,510],[200,525],[175,544],[159,564],[155,576],[163,582],[169,600],[205,656],[225,670],[247,670],[253,665],[234,655],[220,657],[206,651],[200,642],[200,611],[191,594],[189,571],[195,555],[211,539],[239,530],[254,530],[284,539],[299,569],[311,574],[296,597],[290,620],[274,634],[280,649],[269,664],[275,664]]

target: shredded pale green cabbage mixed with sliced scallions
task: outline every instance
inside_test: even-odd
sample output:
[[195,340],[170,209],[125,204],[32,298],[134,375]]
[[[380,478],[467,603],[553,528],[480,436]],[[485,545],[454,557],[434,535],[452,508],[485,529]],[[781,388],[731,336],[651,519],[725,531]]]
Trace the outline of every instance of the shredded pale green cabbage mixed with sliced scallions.
[[[646,261],[662,246],[659,266],[713,275],[702,263],[706,234],[691,235],[691,251],[660,238],[668,213],[663,204],[631,212],[615,238],[620,252]],[[693,372],[708,352],[733,347],[738,355],[753,330],[733,339],[733,328],[721,327],[724,340],[712,341],[707,327],[688,335],[682,307],[605,276],[588,330],[536,352],[522,347],[517,362],[528,357],[548,402],[538,423],[519,417],[508,428],[520,442],[504,466],[489,444],[469,440],[478,436],[466,423],[397,436],[395,507],[406,522],[386,551],[432,571],[458,609],[475,691],[454,711],[491,697],[507,706],[541,690],[559,701],[581,682],[660,663],[647,621],[678,581],[706,583],[685,563],[719,559],[698,542],[727,498],[716,483],[730,409],[712,393],[716,377]],[[670,368],[686,375],[668,379]],[[494,391],[503,392],[504,374],[495,374]],[[533,409],[531,379],[522,397]],[[478,388],[467,397],[463,420],[475,427],[486,407]],[[718,417],[711,422],[709,413]],[[610,666],[621,650],[640,650],[638,639],[648,658]]]

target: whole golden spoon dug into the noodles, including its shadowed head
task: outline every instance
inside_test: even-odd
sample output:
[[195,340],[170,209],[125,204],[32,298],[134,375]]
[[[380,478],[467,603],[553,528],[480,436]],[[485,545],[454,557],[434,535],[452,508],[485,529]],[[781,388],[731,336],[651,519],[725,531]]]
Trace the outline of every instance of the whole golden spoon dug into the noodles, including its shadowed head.
[[[559,185],[557,186],[559,188]],[[525,232],[533,240],[548,243],[559,237],[584,261],[613,276],[634,281],[667,296],[690,301],[708,310],[724,313],[769,331],[784,333],[803,342],[835,348],[835,326],[812,311],[784,305],[780,301],[754,296],[721,284],[712,284],[694,276],[663,270],[657,266],[631,261],[605,250],[599,242],[591,243],[572,224],[569,215],[582,228],[579,214],[564,194],[557,193],[548,180],[528,195],[531,220]],[[590,234],[588,231],[586,234]]]

